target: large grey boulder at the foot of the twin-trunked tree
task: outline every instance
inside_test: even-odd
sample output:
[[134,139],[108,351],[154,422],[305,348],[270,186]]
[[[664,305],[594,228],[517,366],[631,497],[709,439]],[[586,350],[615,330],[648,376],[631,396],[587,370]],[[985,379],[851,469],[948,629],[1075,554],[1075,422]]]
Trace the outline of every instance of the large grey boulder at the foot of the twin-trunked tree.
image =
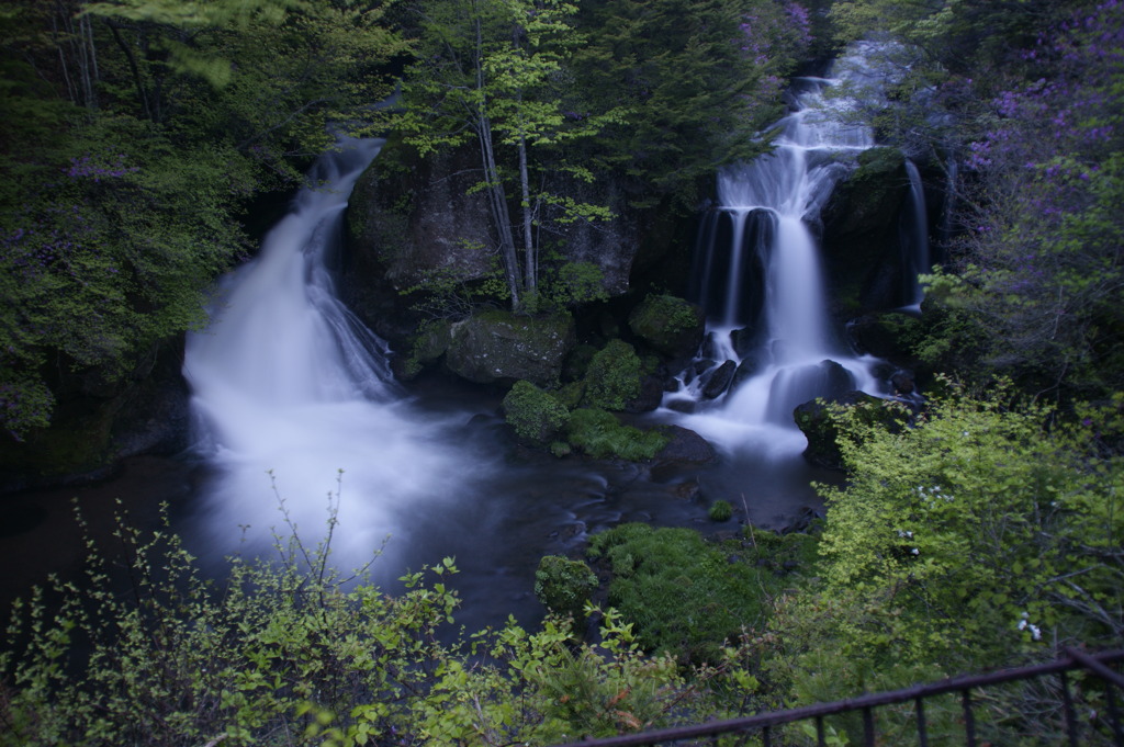
[[537,386],[556,386],[577,340],[568,313],[523,317],[480,311],[450,327],[445,366],[481,384],[525,379]]

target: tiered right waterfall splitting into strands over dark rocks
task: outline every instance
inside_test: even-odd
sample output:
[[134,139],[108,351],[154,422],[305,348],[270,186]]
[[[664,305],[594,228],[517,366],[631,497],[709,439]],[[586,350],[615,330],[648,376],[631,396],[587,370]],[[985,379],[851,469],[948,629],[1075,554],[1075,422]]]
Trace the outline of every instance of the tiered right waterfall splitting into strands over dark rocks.
[[[719,173],[719,207],[704,220],[691,281],[708,317],[704,359],[664,406],[727,450],[751,443],[803,449],[792,423],[797,404],[878,389],[873,361],[855,356],[832,332],[810,229],[858,153],[874,145],[870,127],[859,122],[855,98],[885,85],[885,74],[868,63],[871,51],[877,45],[860,45],[834,79],[797,79],[794,111],[773,127],[772,152]],[[830,89],[843,82],[851,89],[832,95]],[[909,166],[913,179],[916,167]],[[915,189],[915,211],[924,211],[919,179]],[[924,231],[924,213],[913,213],[907,225]],[[734,383],[709,401],[709,376],[727,361],[737,364]]]

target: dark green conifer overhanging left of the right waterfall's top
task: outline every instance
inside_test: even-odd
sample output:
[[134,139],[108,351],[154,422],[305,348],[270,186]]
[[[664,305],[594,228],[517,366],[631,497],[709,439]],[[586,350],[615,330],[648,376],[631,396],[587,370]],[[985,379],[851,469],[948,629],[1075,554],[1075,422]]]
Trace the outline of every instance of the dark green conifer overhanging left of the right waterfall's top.
[[694,210],[696,181],[758,155],[752,137],[780,111],[785,76],[810,42],[809,20],[773,0],[596,0],[578,16],[577,111],[623,106],[586,151],[641,206],[678,194]]

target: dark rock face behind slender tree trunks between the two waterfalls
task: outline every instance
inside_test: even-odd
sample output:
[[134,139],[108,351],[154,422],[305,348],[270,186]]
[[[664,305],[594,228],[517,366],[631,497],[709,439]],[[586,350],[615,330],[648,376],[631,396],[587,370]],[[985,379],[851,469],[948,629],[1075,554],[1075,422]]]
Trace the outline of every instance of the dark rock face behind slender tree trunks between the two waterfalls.
[[[380,335],[393,335],[380,329],[380,317],[405,313],[408,303],[392,308],[399,293],[434,281],[472,283],[499,270],[488,195],[477,189],[481,179],[480,157],[472,148],[422,157],[395,139],[360,177],[347,208],[345,295]],[[554,183],[545,185],[547,191],[608,207],[614,218],[554,221],[564,218],[561,208],[544,206],[544,245],[561,255],[561,263],[596,266],[609,295],[627,291],[642,234],[636,211],[611,182],[589,185],[565,174],[550,179]],[[518,219],[518,204],[511,210]]]

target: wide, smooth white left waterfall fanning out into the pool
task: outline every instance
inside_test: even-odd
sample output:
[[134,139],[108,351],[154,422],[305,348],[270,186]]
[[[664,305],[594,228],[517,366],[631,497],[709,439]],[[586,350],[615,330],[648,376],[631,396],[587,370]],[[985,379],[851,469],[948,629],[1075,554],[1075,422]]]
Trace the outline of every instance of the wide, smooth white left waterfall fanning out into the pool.
[[333,288],[343,211],[380,145],[344,138],[320,157],[260,256],[219,284],[208,328],[188,338],[184,375],[215,472],[200,532],[223,553],[244,525],[259,544],[271,527],[288,534],[278,494],[315,546],[342,470],[333,552],[359,565],[388,535],[402,539],[400,511],[454,494],[473,471],[437,444],[445,426],[402,400],[386,345]]

